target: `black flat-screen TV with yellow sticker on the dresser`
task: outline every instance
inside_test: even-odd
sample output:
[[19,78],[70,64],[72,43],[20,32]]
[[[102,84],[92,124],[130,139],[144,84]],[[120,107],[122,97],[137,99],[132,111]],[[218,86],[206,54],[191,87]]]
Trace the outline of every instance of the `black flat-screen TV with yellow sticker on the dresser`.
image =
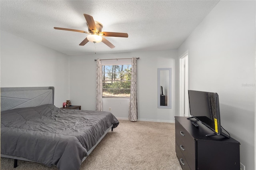
[[222,135],[230,138],[222,132],[220,124],[220,106],[217,93],[188,90],[190,115],[210,128],[214,133],[206,136]]

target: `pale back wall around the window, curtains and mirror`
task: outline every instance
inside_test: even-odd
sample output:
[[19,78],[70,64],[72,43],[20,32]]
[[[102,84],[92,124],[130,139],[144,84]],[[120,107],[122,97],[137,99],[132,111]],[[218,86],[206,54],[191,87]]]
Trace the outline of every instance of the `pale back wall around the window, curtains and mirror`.
[[[96,61],[94,59],[140,57],[138,69],[138,119],[174,122],[175,59],[177,50],[132,53],[93,54],[70,57],[70,100],[82,109],[96,109]],[[157,68],[172,68],[172,109],[157,108]],[[104,99],[103,109],[118,118],[128,118],[129,99]]]

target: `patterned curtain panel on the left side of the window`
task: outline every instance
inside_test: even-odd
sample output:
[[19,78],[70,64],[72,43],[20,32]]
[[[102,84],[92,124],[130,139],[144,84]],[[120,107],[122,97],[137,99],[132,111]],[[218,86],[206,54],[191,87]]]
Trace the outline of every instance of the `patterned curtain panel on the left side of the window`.
[[96,111],[103,111],[102,106],[102,65],[100,59],[97,59],[96,70]]

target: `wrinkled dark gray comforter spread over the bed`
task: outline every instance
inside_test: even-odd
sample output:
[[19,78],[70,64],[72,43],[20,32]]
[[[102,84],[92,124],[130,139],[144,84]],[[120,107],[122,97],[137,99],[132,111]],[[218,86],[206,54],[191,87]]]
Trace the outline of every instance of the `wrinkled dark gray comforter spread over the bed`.
[[78,170],[104,132],[119,122],[109,112],[58,109],[54,105],[1,112],[1,154],[60,170]]

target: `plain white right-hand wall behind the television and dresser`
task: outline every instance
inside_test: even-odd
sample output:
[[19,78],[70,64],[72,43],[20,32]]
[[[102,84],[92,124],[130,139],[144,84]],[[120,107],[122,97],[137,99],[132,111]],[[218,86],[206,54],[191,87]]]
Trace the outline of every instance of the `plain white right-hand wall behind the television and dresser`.
[[246,170],[255,169],[255,7],[220,1],[178,49],[189,50],[189,89],[218,93],[222,127],[241,143]]

